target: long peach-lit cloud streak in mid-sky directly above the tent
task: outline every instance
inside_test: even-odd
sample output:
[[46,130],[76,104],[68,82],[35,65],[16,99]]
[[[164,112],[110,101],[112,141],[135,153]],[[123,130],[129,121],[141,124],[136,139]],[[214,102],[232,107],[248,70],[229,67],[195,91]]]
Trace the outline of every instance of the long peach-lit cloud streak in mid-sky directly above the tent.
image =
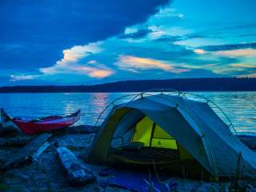
[[159,61],[151,58],[138,58],[130,55],[120,55],[115,63],[122,70],[164,70],[174,74],[188,71],[187,69],[176,68],[174,64]]

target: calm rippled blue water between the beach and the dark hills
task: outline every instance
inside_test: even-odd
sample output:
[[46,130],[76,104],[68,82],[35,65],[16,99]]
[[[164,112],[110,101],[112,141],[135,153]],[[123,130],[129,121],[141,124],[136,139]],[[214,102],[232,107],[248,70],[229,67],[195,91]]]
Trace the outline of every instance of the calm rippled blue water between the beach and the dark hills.
[[[130,94],[130,93],[129,93]],[[197,92],[222,108],[239,133],[256,134],[256,92]],[[126,93],[0,94],[0,107],[11,116],[38,117],[70,114],[82,110],[78,124],[94,125],[98,114],[114,99]],[[134,96],[120,101],[129,101]],[[223,118],[219,110],[214,110]],[[105,117],[109,110],[102,115]],[[100,118],[100,121],[102,120]],[[226,120],[225,120],[226,121]]]

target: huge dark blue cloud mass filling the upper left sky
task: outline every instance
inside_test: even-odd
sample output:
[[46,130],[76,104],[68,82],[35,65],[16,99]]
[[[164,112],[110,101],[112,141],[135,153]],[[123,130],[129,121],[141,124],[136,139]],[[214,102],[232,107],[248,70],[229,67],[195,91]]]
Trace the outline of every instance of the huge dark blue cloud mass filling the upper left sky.
[[121,34],[168,2],[1,1],[0,69],[34,73],[56,62],[62,50]]

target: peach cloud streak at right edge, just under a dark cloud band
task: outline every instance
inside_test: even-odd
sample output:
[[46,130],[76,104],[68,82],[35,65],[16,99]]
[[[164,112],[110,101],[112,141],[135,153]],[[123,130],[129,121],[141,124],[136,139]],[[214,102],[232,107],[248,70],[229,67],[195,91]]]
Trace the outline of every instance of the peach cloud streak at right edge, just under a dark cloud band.
[[256,56],[256,49],[239,49],[239,50],[218,50],[215,51],[214,54],[225,56],[225,57],[250,57],[250,56]]

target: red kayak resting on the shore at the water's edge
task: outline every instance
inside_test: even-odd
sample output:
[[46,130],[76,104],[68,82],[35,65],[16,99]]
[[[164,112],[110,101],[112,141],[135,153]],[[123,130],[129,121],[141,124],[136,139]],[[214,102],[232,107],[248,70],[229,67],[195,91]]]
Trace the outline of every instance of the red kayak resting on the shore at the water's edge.
[[38,134],[51,130],[59,130],[73,125],[80,118],[80,112],[81,111],[78,110],[74,114],[66,116],[48,116],[44,118],[29,120],[24,118],[10,118],[2,110],[2,116],[9,118],[10,121],[14,122],[14,124],[26,134]]

